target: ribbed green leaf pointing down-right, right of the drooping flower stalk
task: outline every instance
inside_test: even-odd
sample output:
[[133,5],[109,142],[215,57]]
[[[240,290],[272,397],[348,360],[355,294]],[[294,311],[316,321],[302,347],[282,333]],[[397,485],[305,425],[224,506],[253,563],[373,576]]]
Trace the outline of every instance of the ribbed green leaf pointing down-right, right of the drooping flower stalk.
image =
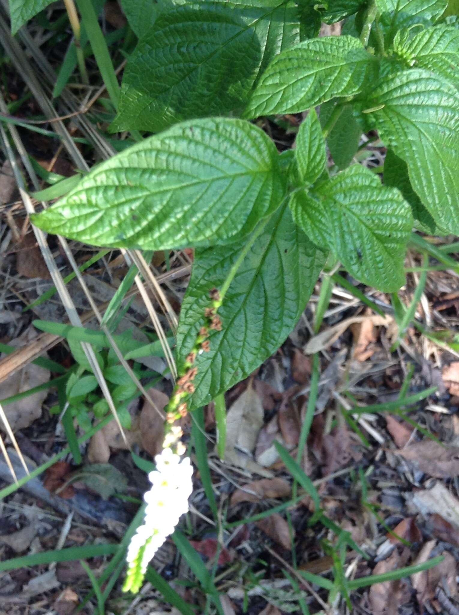
[[306,234],[330,248],[356,279],[385,292],[403,284],[410,206],[370,170],[353,165],[321,183],[312,196],[296,192],[290,207]]

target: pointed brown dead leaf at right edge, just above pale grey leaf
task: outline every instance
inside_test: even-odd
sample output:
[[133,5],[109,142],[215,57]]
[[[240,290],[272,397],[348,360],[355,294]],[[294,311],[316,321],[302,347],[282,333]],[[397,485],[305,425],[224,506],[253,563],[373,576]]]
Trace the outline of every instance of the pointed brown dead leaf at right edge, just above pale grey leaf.
[[450,478],[459,474],[459,446],[442,446],[434,440],[422,440],[393,452],[429,476]]

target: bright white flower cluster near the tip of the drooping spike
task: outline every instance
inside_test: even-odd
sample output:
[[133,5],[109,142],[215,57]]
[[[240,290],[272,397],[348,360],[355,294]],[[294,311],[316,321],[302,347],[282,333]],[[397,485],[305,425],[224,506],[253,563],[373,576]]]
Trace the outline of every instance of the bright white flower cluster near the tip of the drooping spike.
[[[155,463],[156,470],[148,475],[152,488],[144,495],[147,502],[144,523],[131,538],[126,557],[141,577],[159,547],[173,533],[181,515],[187,512],[188,498],[193,491],[193,468],[189,458],[181,459],[170,448],[165,448],[155,457]],[[138,562],[142,547],[145,549]]]

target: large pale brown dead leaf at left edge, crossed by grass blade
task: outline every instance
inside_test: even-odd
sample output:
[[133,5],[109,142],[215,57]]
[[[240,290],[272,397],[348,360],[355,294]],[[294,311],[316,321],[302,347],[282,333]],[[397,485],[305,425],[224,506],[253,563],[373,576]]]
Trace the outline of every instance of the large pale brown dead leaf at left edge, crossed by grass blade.
[[[34,337],[36,337],[36,334],[31,327],[25,334],[10,341],[10,345],[16,347],[24,346]],[[9,378],[0,383],[0,399],[23,393],[28,389],[47,383],[49,377],[49,370],[29,363],[23,370],[13,373]],[[12,431],[15,432],[19,429],[25,429],[25,427],[28,427],[36,419],[41,417],[42,403],[48,394],[49,391],[47,390],[39,391],[17,402],[9,403],[4,407],[5,415]],[[1,419],[0,429],[4,429],[4,424]]]

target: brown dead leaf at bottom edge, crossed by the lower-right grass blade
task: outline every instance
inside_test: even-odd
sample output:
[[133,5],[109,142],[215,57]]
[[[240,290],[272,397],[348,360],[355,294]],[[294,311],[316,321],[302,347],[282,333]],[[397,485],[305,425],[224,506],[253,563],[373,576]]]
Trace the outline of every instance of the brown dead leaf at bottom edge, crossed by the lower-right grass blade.
[[[379,561],[373,569],[373,574],[388,573],[396,568],[404,566],[404,562],[398,550],[385,560]],[[374,615],[398,615],[399,606],[403,606],[410,600],[410,590],[406,581],[385,581],[371,585],[368,592],[368,600]]]

